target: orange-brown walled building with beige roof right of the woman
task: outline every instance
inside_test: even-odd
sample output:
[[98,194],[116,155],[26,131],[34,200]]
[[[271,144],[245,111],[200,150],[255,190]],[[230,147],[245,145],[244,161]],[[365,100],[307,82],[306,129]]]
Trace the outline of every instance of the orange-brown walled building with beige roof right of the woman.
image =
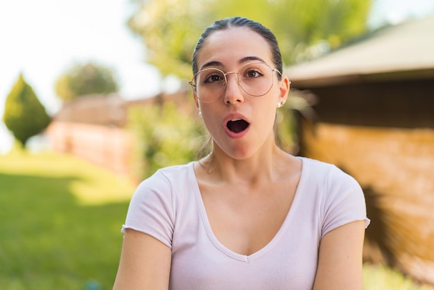
[[434,16],[379,29],[286,69],[315,95],[300,154],[361,183],[365,259],[434,284]]

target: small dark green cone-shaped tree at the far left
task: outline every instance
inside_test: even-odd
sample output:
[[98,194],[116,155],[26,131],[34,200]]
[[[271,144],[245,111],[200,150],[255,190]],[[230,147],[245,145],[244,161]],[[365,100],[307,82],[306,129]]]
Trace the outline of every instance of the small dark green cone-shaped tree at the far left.
[[51,118],[22,74],[6,98],[3,121],[23,146],[49,126]]

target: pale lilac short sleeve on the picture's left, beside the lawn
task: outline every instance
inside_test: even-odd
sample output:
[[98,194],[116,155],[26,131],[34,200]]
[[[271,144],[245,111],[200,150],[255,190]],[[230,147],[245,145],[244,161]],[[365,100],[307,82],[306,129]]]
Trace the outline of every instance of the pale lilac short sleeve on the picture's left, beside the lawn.
[[123,225],[149,234],[172,247],[174,215],[171,183],[160,172],[141,182],[134,192]]

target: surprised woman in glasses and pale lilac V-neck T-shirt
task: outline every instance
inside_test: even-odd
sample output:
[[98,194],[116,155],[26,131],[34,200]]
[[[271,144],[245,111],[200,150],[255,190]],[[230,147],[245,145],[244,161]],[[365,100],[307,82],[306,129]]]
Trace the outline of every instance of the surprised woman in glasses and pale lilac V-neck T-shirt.
[[281,71],[257,22],[223,19],[202,34],[190,83],[211,153],[139,185],[114,289],[363,289],[363,192],[277,146]]

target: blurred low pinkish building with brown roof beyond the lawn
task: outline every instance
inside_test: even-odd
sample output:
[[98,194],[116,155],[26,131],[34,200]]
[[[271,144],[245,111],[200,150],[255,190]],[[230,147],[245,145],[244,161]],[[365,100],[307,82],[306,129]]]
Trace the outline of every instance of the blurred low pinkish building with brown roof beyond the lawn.
[[69,153],[120,174],[130,174],[134,137],[125,130],[128,108],[172,101],[190,112],[189,94],[158,94],[125,101],[117,94],[80,96],[55,115],[46,135],[53,150]]

